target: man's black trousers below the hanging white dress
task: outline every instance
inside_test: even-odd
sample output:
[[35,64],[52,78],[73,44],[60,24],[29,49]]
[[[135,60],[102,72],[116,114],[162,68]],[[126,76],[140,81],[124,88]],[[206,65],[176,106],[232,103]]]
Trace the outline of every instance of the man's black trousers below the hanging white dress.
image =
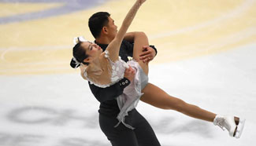
[[133,109],[125,117],[125,123],[134,127],[129,129],[124,124],[117,125],[116,117],[99,115],[99,124],[113,146],[160,146],[154,130],[138,111]]

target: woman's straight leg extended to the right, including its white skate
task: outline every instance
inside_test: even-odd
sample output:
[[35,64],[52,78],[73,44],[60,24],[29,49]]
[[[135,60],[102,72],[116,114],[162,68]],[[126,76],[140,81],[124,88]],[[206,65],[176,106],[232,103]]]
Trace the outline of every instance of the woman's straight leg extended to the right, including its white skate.
[[238,117],[228,115],[216,115],[210,111],[198,108],[195,105],[187,104],[184,100],[172,97],[162,89],[158,88],[158,86],[154,86],[150,83],[147,84],[142,92],[144,94],[140,100],[147,104],[151,104],[154,107],[180,111],[193,118],[213,122],[214,125],[220,126],[222,129],[224,127],[228,130],[231,137],[239,138],[243,133],[245,119],[239,119]]

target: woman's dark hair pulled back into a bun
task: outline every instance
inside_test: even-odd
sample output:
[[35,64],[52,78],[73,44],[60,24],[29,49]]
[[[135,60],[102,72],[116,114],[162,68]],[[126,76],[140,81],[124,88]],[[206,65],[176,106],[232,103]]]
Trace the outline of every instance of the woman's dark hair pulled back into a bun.
[[73,57],[72,60],[70,61],[70,66],[72,68],[78,68],[80,66],[80,63],[88,65],[89,63],[83,62],[84,59],[89,57],[86,54],[85,49],[81,46],[82,42],[78,42],[76,46],[73,47]]

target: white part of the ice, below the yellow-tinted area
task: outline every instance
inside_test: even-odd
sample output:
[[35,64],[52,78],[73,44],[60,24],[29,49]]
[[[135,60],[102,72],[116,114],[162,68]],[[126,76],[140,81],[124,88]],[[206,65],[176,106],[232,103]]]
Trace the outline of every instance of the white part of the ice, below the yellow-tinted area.
[[[256,144],[256,49],[242,46],[150,66],[150,82],[201,108],[247,119],[240,139],[213,123],[140,102],[138,110],[164,146]],[[1,146],[109,145],[98,126],[98,101],[80,75],[0,77]]]

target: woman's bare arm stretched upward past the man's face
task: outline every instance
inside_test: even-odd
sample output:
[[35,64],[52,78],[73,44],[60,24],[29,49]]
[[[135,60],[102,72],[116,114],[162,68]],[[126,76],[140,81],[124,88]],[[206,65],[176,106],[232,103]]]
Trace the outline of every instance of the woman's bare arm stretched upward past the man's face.
[[145,2],[146,0],[136,0],[135,4],[132,5],[132,8],[129,10],[127,15],[125,16],[123,23],[120,27],[120,30],[117,32],[116,37],[113,39],[112,42],[109,43],[109,46],[106,50],[109,50],[109,57],[111,60],[115,61],[118,60],[119,57],[119,50],[121,46],[121,42],[124,39],[124,35],[128,30],[128,27],[132,24],[132,20],[134,19],[139,7]]

